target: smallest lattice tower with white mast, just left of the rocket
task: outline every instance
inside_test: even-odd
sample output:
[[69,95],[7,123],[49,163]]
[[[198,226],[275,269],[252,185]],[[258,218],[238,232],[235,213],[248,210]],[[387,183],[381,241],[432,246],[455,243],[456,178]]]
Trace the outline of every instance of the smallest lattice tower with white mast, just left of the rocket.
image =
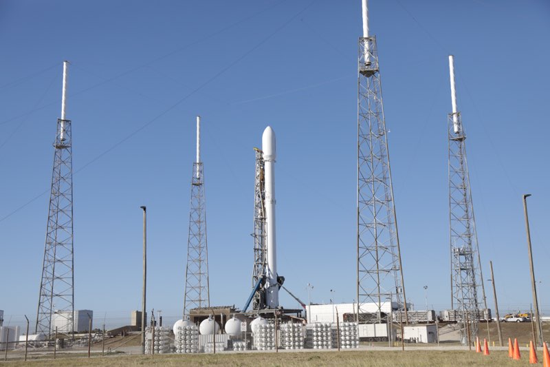
[[203,164],[200,157],[200,116],[197,116],[197,161],[191,179],[191,209],[185,277],[184,317],[195,307],[210,307],[208,284],[208,244],[206,240],[206,199]]

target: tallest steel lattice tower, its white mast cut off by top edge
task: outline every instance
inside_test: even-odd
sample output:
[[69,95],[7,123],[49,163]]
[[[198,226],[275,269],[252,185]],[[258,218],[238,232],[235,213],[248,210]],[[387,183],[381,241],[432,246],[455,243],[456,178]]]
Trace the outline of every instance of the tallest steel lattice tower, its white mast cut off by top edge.
[[[384,302],[406,304],[376,37],[363,0],[358,65],[358,314],[377,305],[369,322],[386,323]],[[406,312],[406,307],[405,307]],[[360,315],[358,320],[362,321]],[[407,318],[407,317],[406,317]]]

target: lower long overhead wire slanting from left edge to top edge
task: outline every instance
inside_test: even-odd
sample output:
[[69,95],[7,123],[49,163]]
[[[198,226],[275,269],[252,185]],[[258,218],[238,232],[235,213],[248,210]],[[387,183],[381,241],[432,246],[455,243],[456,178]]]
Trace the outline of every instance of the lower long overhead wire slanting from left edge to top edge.
[[[102,151],[102,153],[98,154],[98,156],[96,156],[95,158],[92,158],[91,160],[89,160],[87,163],[85,163],[85,165],[83,165],[82,167],[80,167],[79,169],[76,169],[73,174],[76,175],[78,174],[80,171],[83,171],[84,169],[86,169],[87,167],[89,167],[89,165],[93,164],[94,162],[96,162],[97,160],[99,160],[100,158],[102,158],[103,156],[105,156],[106,154],[109,154],[111,151],[113,151],[116,147],[118,147],[119,145],[122,145],[122,143],[126,142],[127,140],[131,139],[133,136],[135,136],[136,134],[138,134],[139,132],[141,132],[143,129],[145,129],[146,127],[148,127],[149,125],[155,123],[155,121],[159,120],[159,118],[161,118],[162,116],[168,114],[168,112],[172,111],[173,109],[175,109],[177,106],[179,106],[181,103],[183,103],[184,101],[186,101],[190,96],[192,96],[193,94],[199,92],[199,90],[203,89],[203,87],[206,87],[206,85],[209,85],[210,83],[212,83],[212,81],[214,81],[215,79],[217,79],[219,76],[221,76],[222,74],[225,74],[225,72],[227,72],[228,70],[230,70],[234,65],[236,65],[237,63],[239,63],[240,61],[242,61],[243,59],[245,59],[246,56],[252,54],[252,52],[254,52],[255,50],[257,50],[258,48],[261,47],[261,45],[263,45],[264,43],[266,43],[267,41],[269,41],[270,39],[272,39],[273,36],[275,36],[276,34],[278,34],[278,32],[281,32],[281,30],[283,30],[287,25],[289,25],[290,23],[292,23],[292,21],[294,21],[294,19],[296,19],[296,17],[298,17],[300,14],[303,14],[303,12],[305,12],[308,8],[310,8],[314,3],[315,3],[316,0],[313,0],[311,1],[307,6],[305,6],[305,8],[302,8],[302,10],[300,10],[299,12],[297,12],[296,14],[294,14],[290,19],[288,19],[287,21],[285,21],[285,23],[283,23],[283,25],[279,26],[278,28],[276,28],[273,32],[271,32],[270,34],[268,34],[264,39],[262,39],[262,41],[260,41],[259,43],[256,43],[256,45],[254,45],[252,48],[250,48],[247,52],[245,52],[244,54],[242,54],[241,56],[239,56],[238,59],[234,60],[232,63],[228,64],[227,66],[223,67],[223,69],[221,69],[219,72],[217,72],[216,74],[214,74],[212,77],[208,78],[207,81],[205,81],[204,83],[202,83],[201,85],[199,85],[198,87],[196,87],[194,90],[192,90],[191,92],[189,92],[188,94],[186,94],[184,97],[180,98],[176,103],[174,103],[173,105],[170,105],[170,107],[164,109],[164,111],[162,111],[161,113],[157,114],[157,116],[155,116],[154,118],[152,118],[151,120],[148,120],[146,123],[144,123],[144,125],[138,127],[137,129],[135,129],[133,132],[131,132],[130,134],[128,134],[127,136],[125,136],[124,138],[122,138],[121,140],[119,140],[117,143],[115,143],[114,145],[112,145],[111,147],[109,147],[108,149]],[[41,196],[43,196],[45,193],[47,193],[47,191],[49,190],[46,190],[46,191],[43,191],[42,193],[40,193],[39,195],[35,196],[34,198],[32,198],[31,200],[29,200],[28,202],[25,202],[24,205],[22,205],[21,207],[18,207],[17,209],[14,209],[13,211],[11,211],[10,213],[8,213],[6,216],[3,216],[2,218],[0,218],[0,222],[3,222],[4,220],[10,218],[11,216],[13,216],[15,213],[17,213],[18,211],[20,211],[21,209],[23,209],[24,207],[27,207],[28,205],[30,205],[32,202],[34,202],[35,200],[38,200]]]

